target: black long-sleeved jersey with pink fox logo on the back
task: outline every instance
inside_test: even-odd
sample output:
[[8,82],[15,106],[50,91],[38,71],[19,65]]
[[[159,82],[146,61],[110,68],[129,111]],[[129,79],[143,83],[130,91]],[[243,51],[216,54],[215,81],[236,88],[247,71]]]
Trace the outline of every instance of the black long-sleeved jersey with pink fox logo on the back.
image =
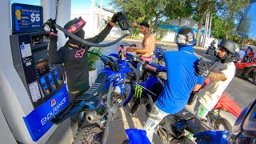
[[[86,41],[102,42],[110,33],[112,26],[108,24],[102,32],[94,38],[87,38]],[[65,44],[57,50],[57,35],[50,34],[49,62],[62,64],[66,70],[67,86],[69,91],[82,91],[89,88],[89,66],[87,52],[90,46],[74,47]]]

